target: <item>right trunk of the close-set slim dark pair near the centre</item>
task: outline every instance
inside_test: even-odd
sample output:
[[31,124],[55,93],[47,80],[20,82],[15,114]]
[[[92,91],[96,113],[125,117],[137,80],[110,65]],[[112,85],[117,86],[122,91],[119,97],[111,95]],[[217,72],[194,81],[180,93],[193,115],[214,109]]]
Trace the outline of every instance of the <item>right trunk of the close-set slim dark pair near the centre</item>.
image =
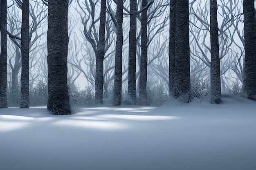
[[[141,1],[141,9],[147,7],[148,0]],[[141,60],[139,77],[139,105],[147,105],[147,65],[148,65],[148,10],[141,12]]]

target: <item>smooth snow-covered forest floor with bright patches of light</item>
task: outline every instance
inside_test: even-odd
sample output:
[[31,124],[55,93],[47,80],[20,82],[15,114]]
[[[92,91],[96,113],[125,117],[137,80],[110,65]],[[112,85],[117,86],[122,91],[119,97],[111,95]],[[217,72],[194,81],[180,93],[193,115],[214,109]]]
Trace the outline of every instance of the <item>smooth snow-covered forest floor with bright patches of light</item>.
[[256,170],[256,102],[0,110],[0,170]]

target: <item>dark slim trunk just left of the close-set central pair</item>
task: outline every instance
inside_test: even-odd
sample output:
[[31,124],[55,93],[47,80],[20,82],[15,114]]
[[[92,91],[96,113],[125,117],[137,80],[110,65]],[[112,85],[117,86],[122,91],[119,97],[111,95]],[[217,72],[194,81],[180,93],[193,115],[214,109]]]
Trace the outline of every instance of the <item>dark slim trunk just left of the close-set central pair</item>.
[[117,1],[117,42],[115,53],[115,80],[113,106],[120,106],[122,100],[122,51],[123,51],[123,0]]

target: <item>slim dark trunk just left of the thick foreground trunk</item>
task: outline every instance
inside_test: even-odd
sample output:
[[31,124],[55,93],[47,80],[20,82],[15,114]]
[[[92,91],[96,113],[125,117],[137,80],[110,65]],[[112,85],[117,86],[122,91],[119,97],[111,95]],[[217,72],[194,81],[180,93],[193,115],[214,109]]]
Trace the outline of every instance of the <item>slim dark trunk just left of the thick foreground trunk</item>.
[[29,0],[22,2],[20,108],[29,108]]

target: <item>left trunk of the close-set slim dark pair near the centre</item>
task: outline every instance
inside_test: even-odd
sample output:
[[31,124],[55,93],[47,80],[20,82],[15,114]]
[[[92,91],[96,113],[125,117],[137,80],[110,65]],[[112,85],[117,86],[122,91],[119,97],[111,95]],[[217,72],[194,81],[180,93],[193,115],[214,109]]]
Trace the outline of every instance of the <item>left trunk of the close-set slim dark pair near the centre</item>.
[[128,96],[130,104],[137,104],[136,99],[136,29],[137,29],[137,0],[130,0],[130,32],[129,32],[129,69]]

